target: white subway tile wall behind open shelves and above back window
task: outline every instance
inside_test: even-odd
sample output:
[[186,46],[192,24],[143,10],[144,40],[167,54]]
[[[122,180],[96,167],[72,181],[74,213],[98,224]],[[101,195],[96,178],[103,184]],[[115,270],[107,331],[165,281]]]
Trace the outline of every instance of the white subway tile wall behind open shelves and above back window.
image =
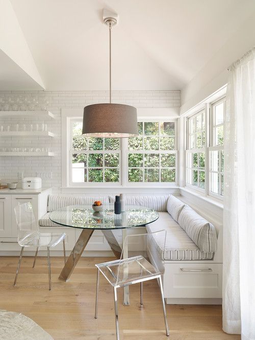
[[[37,173],[52,173],[52,178],[42,178],[44,187],[53,187],[53,192],[61,192],[61,109],[79,108],[89,104],[106,103],[108,91],[0,91],[0,100],[10,103],[26,102],[36,99],[37,109],[47,109],[54,113],[55,119],[41,119],[36,115],[30,118],[1,118],[0,126],[15,124],[46,124],[47,130],[55,137],[18,136],[0,137],[2,148],[49,148],[55,153],[50,157],[0,156],[0,180],[16,181],[18,172],[24,177],[35,177]],[[30,100],[31,99],[31,100]],[[180,107],[181,91],[113,91],[112,102],[139,107]],[[11,106],[10,106],[11,107]],[[36,108],[35,108],[36,109]],[[9,109],[11,110],[11,108]],[[0,111],[1,112],[1,111]],[[1,132],[0,132],[1,133]]]

